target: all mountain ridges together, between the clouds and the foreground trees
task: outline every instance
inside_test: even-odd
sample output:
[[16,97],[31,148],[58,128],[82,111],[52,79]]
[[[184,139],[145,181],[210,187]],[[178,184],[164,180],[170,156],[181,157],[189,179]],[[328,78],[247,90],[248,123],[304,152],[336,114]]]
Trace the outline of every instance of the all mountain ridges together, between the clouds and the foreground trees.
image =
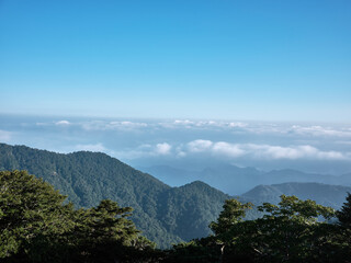
[[[234,165],[208,168],[200,173],[169,167],[154,168],[155,171],[150,173],[160,173],[160,180],[168,181],[167,178],[170,176],[177,178],[178,183],[182,180],[186,182],[182,186],[171,187],[104,153],[79,151],[61,155],[25,146],[0,144],[0,170],[14,169],[27,170],[43,178],[63,194],[68,195],[69,201],[77,207],[97,206],[104,198],[116,201],[121,206],[132,206],[132,219],[137,228],[160,248],[208,236],[208,224],[217,218],[224,201],[231,196],[206,183],[227,193],[252,186],[253,188],[240,196],[240,201],[254,204],[278,203],[279,196],[286,194],[304,199],[312,198],[319,204],[339,208],[344,202],[346,193],[351,192],[351,187],[347,186],[284,183],[315,180],[350,185],[351,174],[329,176],[293,170],[264,173],[254,168]],[[258,185],[262,183],[275,184]],[[248,213],[248,219],[258,215],[256,210],[251,210]]]

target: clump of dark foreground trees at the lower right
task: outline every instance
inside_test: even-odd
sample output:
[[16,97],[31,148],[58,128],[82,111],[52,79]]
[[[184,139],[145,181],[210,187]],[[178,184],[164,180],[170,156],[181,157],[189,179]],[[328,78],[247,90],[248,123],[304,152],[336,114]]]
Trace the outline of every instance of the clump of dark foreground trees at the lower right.
[[347,262],[351,255],[344,231],[329,222],[336,215],[330,207],[282,195],[278,205],[258,207],[261,218],[242,220],[250,207],[226,201],[211,224],[213,238],[222,244],[220,262]]

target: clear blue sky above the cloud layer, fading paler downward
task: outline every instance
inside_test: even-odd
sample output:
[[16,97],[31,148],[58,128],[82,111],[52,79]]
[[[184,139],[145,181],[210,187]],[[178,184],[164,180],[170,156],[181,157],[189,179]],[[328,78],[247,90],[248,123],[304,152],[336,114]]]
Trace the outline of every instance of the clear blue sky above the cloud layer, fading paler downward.
[[350,0],[0,0],[0,113],[350,122]]

